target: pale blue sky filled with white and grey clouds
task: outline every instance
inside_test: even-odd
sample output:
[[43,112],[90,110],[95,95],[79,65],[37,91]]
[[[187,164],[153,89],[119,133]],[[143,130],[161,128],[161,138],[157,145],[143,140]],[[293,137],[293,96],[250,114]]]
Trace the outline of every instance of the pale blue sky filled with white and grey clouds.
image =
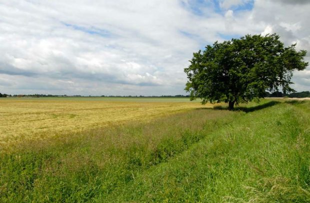
[[[278,33],[308,51],[310,0],[0,0],[0,92],[177,95],[192,53]],[[310,67],[292,87],[310,90]]]

